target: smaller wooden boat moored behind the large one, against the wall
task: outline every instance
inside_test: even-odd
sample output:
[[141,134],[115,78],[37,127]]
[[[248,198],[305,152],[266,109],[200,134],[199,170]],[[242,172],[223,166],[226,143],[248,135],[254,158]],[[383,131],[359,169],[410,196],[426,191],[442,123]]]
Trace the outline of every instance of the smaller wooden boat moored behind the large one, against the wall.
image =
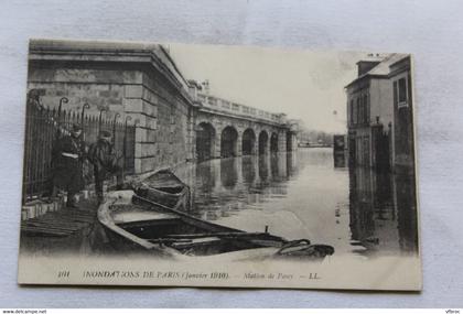
[[180,203],[181,209],[190,207],[190,187],[170,170],[161,170],[133,185],[137,195],[154,201],[168,207]]

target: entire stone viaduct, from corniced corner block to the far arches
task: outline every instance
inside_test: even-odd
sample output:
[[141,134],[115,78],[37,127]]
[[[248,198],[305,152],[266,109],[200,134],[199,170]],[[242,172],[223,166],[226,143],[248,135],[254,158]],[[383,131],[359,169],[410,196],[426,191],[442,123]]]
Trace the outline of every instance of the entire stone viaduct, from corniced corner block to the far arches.
[[297,148],[284,113],[203,93],[158,44],[31,41],[28,89],[37,89],[47,107],[67,97],[68,110],[89,104],[87,112],[138,120],[136,173]]

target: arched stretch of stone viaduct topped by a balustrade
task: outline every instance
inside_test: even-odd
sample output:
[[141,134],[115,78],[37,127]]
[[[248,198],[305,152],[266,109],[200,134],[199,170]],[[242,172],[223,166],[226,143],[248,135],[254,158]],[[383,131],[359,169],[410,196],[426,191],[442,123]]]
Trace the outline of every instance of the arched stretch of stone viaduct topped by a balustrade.
[[227,158],[292,151],[295,131],[283,113],[198,94],[195,115],[196,158]]

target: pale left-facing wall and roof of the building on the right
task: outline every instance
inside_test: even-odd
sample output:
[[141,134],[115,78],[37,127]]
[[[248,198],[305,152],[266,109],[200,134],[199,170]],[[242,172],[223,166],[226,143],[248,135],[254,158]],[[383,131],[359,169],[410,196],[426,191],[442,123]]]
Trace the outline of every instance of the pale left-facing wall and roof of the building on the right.
[[390,66],[406,55],[372,55],[357,63],[346,86],[349,164],[390,170],[395,164],[394,88]]

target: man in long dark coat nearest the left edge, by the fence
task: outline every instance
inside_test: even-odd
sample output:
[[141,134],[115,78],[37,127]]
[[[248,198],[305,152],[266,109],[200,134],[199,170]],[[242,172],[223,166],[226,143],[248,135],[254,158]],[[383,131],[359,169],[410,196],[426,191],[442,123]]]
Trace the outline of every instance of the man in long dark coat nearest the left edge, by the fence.
[[85,155],[85,144],[82,140],[82,128],[73,124],[71,134],[65,134],[56,141],[53,148],[53,195],[61,188],[67,192],[66,206],[76,208],[74,196],[84,187],[82,164]]

